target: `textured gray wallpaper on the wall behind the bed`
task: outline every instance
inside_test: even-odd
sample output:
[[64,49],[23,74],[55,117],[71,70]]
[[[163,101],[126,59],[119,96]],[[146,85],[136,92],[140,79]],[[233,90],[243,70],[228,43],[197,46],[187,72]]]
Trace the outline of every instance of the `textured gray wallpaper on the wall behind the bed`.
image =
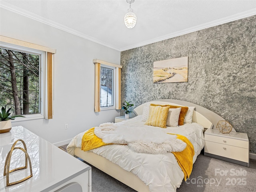
[[[188,56],[188,82],[153,84],[153,62]],[[245,132],[256,153],[256,16],[121,52],[121,99],[185,100]]]

